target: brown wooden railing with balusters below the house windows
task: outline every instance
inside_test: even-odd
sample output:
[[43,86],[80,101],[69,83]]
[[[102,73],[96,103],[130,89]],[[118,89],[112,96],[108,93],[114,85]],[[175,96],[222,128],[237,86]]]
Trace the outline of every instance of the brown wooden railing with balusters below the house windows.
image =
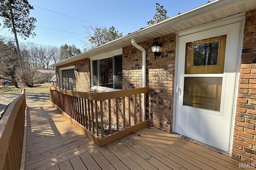
[[148,120],[142,120],[146,117],[148,88],[102,93],[63,90],[58,87],[50,87],[49,90],[50,104],[98,146],[149,123]]

